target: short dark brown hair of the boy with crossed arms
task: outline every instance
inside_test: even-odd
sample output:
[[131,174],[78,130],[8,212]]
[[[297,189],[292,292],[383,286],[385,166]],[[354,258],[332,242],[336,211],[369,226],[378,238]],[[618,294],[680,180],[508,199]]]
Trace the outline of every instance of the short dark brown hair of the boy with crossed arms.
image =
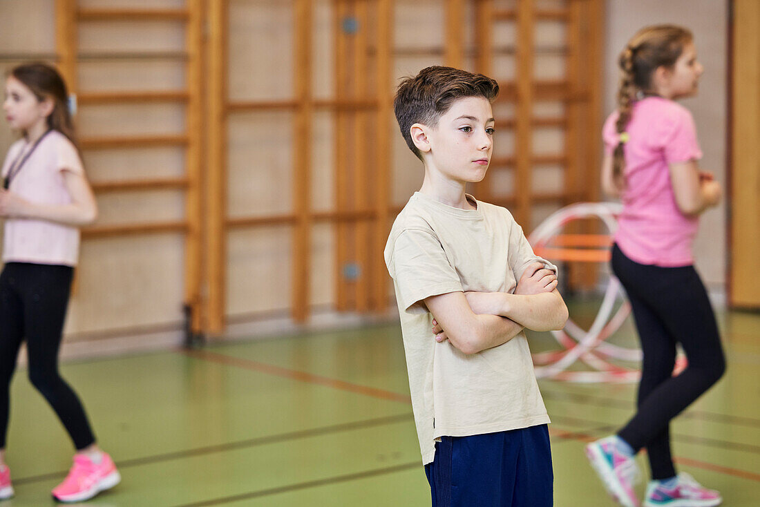
[[499,84],[483,74],[458,68],[434,65],[416,76],[404,78],[396,90],[393,109],[404,141],[413,154],[423,159],[412,141],[410,128],[415,123],[435,127],[438,119],[462,97],[485,97],[489,101],[499,94]]

